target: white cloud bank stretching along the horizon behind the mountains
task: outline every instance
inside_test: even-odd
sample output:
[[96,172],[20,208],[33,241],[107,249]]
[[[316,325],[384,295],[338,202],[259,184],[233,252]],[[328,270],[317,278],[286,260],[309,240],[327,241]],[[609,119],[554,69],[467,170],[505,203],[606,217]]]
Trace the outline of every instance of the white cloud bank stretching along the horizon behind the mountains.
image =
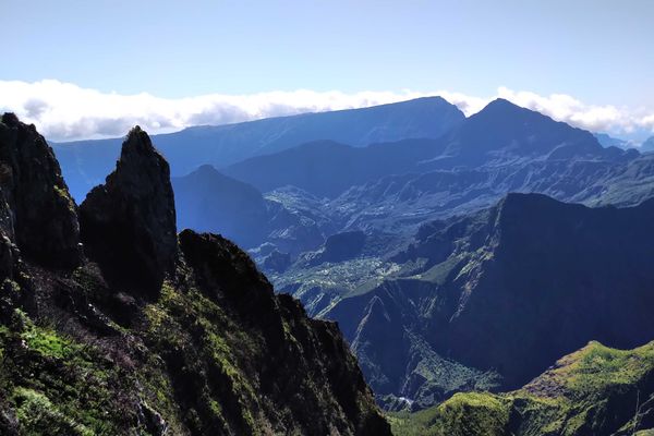
[[34,83],[0,81],[0,111],[13,111],[34,123],[51,141],[122,136],[140,124],[150,133],[173,132],[191,125],[226,124],[302,112],[363,108],[425,96],[441,96],[467,116],[497,97],[594,132],[654,131],[654,111],[593,106],[562,94],[541,96],[506,87],[495,96],[477,97],[434,92],[269,92],[252,95],[209,94],[159,98],[149,94],[121,95],[45,80]]

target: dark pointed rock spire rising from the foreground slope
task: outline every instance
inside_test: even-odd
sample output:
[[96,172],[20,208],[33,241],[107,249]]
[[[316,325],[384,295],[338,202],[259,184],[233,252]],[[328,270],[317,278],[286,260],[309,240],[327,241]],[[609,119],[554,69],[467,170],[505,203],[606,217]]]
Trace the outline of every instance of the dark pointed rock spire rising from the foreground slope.
[[80,206],[82,240],[107,279],[156,295],[177,256],[170,170],[141,128],[122,146],[116,171]]

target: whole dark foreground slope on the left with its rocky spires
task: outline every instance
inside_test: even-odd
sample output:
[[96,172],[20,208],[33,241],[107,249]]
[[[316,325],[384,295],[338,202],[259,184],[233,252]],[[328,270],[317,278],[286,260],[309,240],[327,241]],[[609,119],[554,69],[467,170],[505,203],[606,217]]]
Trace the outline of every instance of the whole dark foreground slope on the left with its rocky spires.
[[[0,157],[0,433],[389,434],[334,323],[231,242],[177,235],[145,132],[78,209],[34,126],[5,114]],[[36,255],[24,232],[60,250]]]

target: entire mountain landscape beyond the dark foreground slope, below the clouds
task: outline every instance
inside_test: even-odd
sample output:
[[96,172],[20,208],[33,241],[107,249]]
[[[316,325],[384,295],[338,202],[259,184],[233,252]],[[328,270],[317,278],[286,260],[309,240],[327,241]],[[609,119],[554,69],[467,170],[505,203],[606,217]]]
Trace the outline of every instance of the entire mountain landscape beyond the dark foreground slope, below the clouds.
[[[610,383],[586,391],[566,378],[579,365],[547,368],[568,353],[583,365],[622,359],[614,348],[654,339],[654,155],[502,99],[469,118],[441,99],[382,108],[155,136],[178,227],[234,240],[278,292],[336,320],[384,409],[426,409],[391,415],[400,434],[626,432],[626,410],[597,404],[627,401],[616,377],[653,391],[647,372],[600,360],[592,368]],[[190,140],[203,130],[206,142]],[[83,145],[110,143],[55,146],[78,192],[80,169],[95,165]],[[552,392],[535,395],[552,377]]]

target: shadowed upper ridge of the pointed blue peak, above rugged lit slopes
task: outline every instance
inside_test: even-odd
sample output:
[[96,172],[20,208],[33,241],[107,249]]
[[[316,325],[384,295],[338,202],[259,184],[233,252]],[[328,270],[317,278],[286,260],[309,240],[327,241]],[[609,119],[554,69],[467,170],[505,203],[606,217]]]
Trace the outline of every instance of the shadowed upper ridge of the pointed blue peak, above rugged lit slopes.
[[294,185],[334,197],[387,175],[498,167],[530,161],[621,161],[638,152],[604,148],[589,132],[497,99],[436,140],[403,140],[354,148],[334,142],[304,144],[250,158],[225,172],[263,192]]

